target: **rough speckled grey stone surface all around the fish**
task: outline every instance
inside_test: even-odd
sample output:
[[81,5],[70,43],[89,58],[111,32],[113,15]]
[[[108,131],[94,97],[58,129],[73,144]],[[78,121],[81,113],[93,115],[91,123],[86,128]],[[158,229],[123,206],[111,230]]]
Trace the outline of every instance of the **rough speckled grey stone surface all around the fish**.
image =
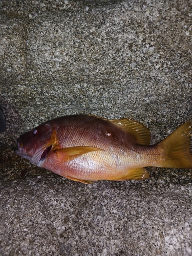
[[[96,2],[96,3],[95,3]],[[191,255],[190,170],[86,186],[13,154],[56,116],[191,119],[191,1],[0,1],[1,255]]]

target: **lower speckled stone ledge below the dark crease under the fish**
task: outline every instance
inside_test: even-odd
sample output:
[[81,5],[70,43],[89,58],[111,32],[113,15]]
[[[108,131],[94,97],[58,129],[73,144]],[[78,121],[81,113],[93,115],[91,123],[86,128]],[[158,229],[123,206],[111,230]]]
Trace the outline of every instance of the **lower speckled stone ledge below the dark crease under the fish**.
[[191,255],[191,196],[189,184],[160,181],[9,181],[1,255]]

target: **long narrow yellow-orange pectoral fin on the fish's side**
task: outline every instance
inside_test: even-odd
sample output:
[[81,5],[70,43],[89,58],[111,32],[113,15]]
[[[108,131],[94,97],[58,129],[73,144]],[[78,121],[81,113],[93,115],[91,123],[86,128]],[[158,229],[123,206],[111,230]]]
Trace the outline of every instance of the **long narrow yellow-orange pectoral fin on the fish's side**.
[[93,151],[103,151],[103,150],[97,147],[92,147],[92,146],[74,146],[74,147],[61,148],[60,150],[54,150],[54,152],[57,154],[59,162],[69,161],[78,156],[81,156],[83,154],[87,154]]

